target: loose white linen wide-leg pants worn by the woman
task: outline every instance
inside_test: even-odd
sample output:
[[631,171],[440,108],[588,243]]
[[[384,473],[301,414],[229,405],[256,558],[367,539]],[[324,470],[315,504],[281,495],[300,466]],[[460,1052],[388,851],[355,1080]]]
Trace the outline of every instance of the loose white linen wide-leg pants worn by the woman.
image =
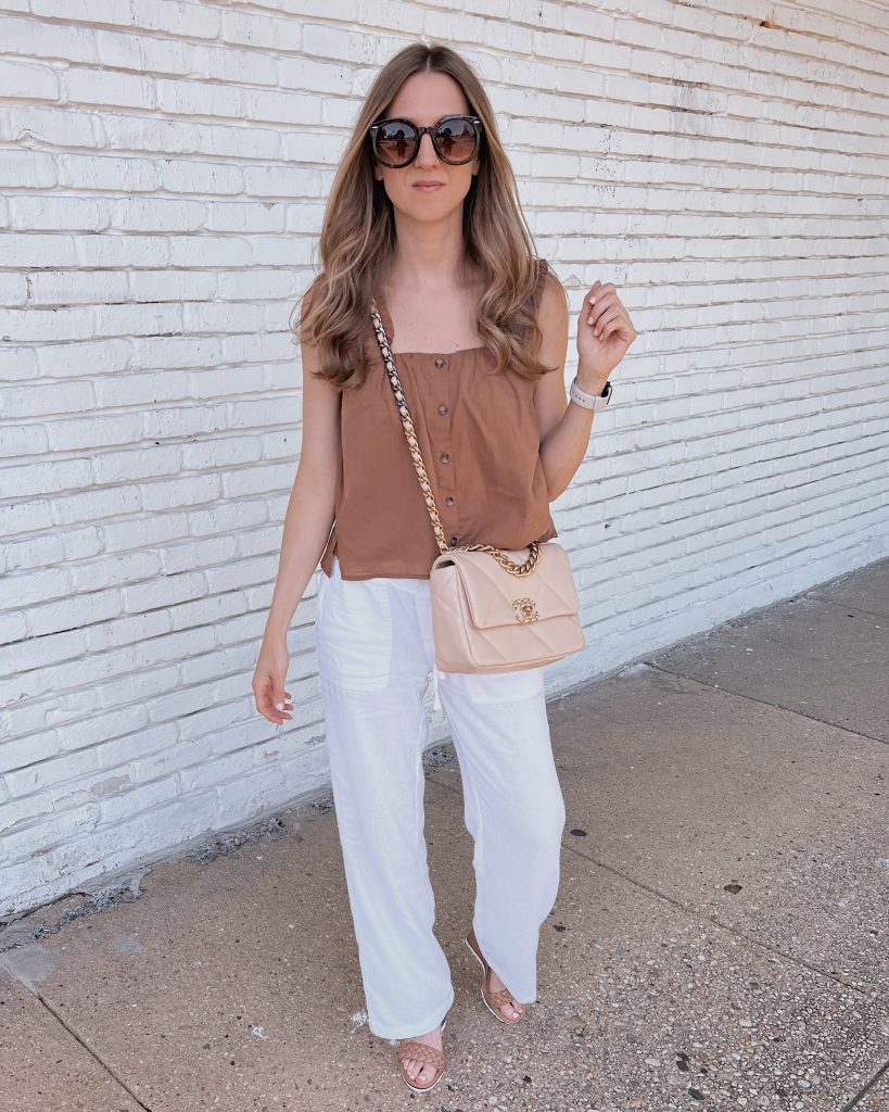
[[423,833],[430,676],[451,727],[475,843],[476,937],[516,1000],[532,1003],[539,929],[559,887],[566,820],[542,667],[439,672],[429,579],[343,579],[336,558],[331,577],[321,573],[316,639],[371,1032],[406,1039],[431,1031],[455,999],[432,933]]

